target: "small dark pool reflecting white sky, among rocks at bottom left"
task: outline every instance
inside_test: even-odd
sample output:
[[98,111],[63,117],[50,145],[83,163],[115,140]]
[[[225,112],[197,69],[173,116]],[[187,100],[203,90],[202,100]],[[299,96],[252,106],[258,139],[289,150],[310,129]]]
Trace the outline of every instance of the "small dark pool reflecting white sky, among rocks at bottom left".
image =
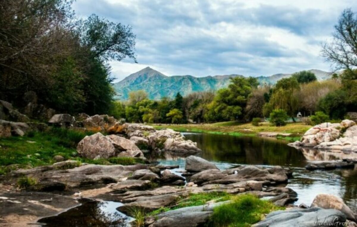
[[131,219],[116,210],[122,203],[81,201],[82,205],[69,209],[57,216],[41,218],[44,226],[55,227],[126,227]]

